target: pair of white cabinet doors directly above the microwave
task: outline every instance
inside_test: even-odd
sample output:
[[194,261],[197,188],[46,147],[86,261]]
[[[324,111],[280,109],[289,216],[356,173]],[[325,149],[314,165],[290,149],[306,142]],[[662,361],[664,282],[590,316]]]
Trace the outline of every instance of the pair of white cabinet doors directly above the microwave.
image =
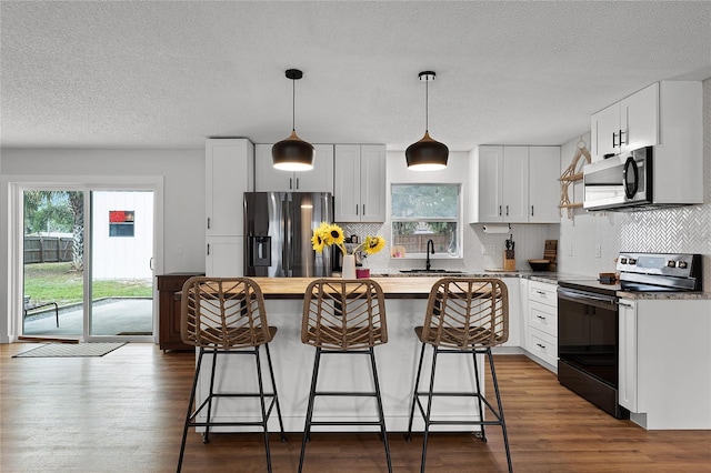
[[659,82],[593,114],[592,160],[659,142]]

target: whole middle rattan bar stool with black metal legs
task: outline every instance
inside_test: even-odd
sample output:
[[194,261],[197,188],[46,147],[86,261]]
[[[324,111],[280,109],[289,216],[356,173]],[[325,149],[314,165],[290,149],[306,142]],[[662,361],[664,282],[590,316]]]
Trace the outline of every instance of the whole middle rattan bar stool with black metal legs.
[[[307,442],[311,427],[318,425],[378,425],[385,445],[388,471],[392,472],[390,445],[385,431],[385,417],[380,396],[378,368],[373,346],[388,342],[385,322],[385,301],[380,285],[372,280],[319,279],[309,284],[303,300],[301,320],[301,342],[316,346],[313,374],[307,420],[301,442],[299,472],[303,469]],[[365,354],[370,356],[374,391],[341,392],[318,391],[319,365],[321,355]],[[378,407],[378,421],[313,421],[313,404],[317,396],[367,396],[374,397]]]

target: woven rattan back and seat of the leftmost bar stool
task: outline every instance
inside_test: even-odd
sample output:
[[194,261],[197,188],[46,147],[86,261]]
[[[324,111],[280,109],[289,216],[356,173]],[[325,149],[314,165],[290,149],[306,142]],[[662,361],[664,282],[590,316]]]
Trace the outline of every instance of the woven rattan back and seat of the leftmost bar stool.
[[194,276],[182,286],[180,335],[184,343],[222,350],[271,342],[264,296],[249,278]]

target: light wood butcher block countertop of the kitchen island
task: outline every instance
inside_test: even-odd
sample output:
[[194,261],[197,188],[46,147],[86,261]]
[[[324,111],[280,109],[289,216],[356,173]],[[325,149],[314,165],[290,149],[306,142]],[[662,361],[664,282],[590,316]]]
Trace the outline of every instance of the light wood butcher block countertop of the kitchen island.
[[[264,299],[303,299],[307,286],[316,278],[250,278],[262,289]],[[427,299],[440,278],[373,278],[385,299]]]

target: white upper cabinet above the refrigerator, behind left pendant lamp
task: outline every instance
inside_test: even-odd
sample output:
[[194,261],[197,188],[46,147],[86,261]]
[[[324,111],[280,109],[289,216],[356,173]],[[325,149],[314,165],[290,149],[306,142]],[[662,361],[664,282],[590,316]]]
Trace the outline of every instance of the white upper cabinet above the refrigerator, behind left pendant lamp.
[[272,144],[256,145],[256,191],[333,193],[333,144],[314,144],[311,171],[280,171],[271,159]]

